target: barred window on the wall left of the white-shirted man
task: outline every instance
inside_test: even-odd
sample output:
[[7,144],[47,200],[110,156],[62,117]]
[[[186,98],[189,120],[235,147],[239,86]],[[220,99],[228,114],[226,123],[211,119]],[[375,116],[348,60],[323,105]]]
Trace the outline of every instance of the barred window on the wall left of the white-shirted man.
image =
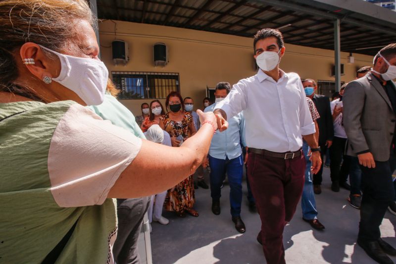
[[118,99],[165,99],[180,92],[179,73],[113,71],[113,83],[121,92]]

